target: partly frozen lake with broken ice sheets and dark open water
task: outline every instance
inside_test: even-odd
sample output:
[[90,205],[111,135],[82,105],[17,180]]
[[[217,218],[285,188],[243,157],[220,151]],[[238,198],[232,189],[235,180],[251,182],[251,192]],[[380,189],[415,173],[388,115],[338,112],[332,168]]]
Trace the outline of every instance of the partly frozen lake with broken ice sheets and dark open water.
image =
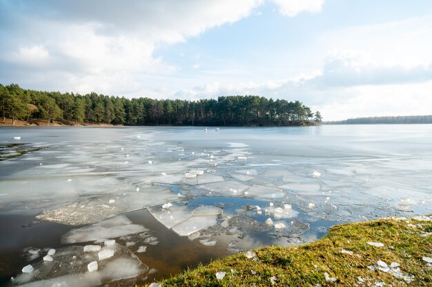
[[431,213],[431,142],[432,125],[0,128],[0,286],[131,286]]

